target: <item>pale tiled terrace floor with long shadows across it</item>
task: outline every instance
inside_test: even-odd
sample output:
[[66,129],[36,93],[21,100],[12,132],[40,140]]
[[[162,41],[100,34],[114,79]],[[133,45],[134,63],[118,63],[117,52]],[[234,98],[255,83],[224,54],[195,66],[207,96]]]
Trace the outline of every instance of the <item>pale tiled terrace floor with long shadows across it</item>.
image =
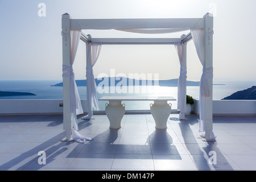
[[187,119],[158,130],[150,114],[128,114],[114,130],[94,115],[79,123],[94,138],[81,144],[60,142],[62,115],[0,116],[0,170],[256,170],[255,117],[213,117],[216,142],[200,138],[197,115]]

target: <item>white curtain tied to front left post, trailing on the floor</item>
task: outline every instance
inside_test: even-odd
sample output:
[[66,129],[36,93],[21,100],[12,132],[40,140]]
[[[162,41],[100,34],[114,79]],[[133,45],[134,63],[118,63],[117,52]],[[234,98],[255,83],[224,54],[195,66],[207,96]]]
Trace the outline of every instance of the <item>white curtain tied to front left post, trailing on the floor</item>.
[[73,127],[71,136],[76,142],[85,143],[86,140],[92,140],[92,138],[84,137],[78,132],[77,115],[84,113],[84,111],[82,110],[81,100],[75,81],[75,74],[72,68],[76,57],[77,47],[79,45],[80,35],[81,30],[71,31],[71,66],[63,65],[63,78],[70,78],[70,111]]

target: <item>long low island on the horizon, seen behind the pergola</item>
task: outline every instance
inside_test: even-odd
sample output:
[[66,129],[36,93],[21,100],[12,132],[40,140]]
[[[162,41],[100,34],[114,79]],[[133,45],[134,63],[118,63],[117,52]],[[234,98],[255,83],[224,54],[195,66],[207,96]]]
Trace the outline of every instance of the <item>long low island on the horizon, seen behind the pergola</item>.
[[[95,79],[96,85],[100,84],[100,82],[104,81],[108,83],[108,86],[112,84],[112,80],[114,80],[115,85],[118,84],[118,82],[122,81],[122,79],[126,79],[126,84],[127,86],[132,83],[133,85],[156,85],[156,81],[154,80],[135,80],[135,79],[130,79],[130,78],[125,78],[125,77],[105,77],[101,79]],[[171,80],[159,80],[158,85],[159,86],[177,86],[178,79],[171,79]],[[103,83],[103,82],[102,82]],[[86,86],[86,80],[76,80],[76,85],[77,86]],[[187,81],[187,86],[199,86],[200,81]],[[63,82],[60,82],[59,84],[51,85],[51,86],[63,86]],[[107,86],[107,85],[104,85]]]

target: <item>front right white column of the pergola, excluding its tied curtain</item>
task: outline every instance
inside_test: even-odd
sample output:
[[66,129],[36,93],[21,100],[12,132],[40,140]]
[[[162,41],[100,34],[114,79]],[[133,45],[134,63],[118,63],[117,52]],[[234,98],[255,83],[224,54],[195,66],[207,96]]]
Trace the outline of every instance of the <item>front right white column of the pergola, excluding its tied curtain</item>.
[[[205,20],[205,68],[213,67],[213,16],[211,14],[204,15]],[[210,96],[205,97],[205,140],[210,141],[210,133],[213,130],[212,117],[212,94],[213,79],[209,79]]]

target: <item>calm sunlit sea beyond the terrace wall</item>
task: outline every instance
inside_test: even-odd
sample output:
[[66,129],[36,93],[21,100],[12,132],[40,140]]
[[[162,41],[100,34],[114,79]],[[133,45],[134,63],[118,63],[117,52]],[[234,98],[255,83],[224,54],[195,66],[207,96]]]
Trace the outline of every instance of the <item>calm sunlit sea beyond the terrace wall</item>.
[[[0,80],[0,91],[10,92],[30,92],[36,94],[36,96],[10,96],[0,97],[0,99],[62,99],[63,88],[55,85],[62,80]],[[214,84],[225,84],[225,85],[213,85],[213,100],[221,100],[224,97],[230,96],[232,93],[239,90],[244,90],[256,85],[254,80],[220,80],[213,81]],[[79,86],[79,94],[81,99],[86,99],[86,86]],[[136,90],[137,89],[137,90]],[[177,87],[166,87],[166,86],[155,86],[148,88],[146,86],[139,86],[135,89],[134,93],[97,93],[98,98],[103,96],[173,96],[177,98]],[[110,89],[108,89],[110,92]],[[187,94],[199,98],[199,86],[187,86]],[[126,101],[127,110],[144,110],[149,109],[152,101]],[[177,102],[172,101],[172,109],[177,108]],[[105,101],[100,101],[100,109],[105,109]]]

